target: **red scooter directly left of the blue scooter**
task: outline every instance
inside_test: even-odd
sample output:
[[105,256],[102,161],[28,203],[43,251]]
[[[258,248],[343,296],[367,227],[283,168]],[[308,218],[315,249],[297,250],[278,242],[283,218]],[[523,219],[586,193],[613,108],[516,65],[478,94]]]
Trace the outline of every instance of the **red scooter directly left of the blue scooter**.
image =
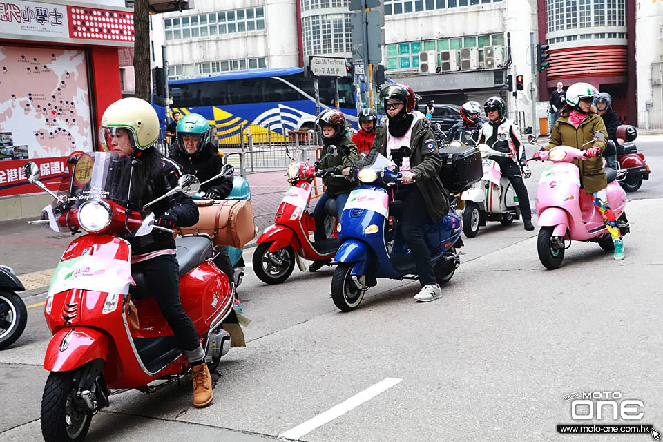
[[[295,153],[299,158],[302,151]],[[330,146],[325,157],[338,155],[335,146]],[[321,158],[318,161],[321,162]],[[274,216],[274,224],[267,227],[258,238],[258,247],[253,252],[253,271],[262,282],[278,284],[289,278],[295,262],[301,271],[306,270],[301,258],[309,261],[332,260],[338,250],[338,212],[336,200],[329,199],[325,204],[325,212],[329,226],[325,229],[329,238],[311,242],[309,232],[316,230],[316,222],[309,215],[307,207],[311,202],[314,189],[313,180],[316,167],[308,160],[293,160],[288,164],[288,188],[278,211]]]

